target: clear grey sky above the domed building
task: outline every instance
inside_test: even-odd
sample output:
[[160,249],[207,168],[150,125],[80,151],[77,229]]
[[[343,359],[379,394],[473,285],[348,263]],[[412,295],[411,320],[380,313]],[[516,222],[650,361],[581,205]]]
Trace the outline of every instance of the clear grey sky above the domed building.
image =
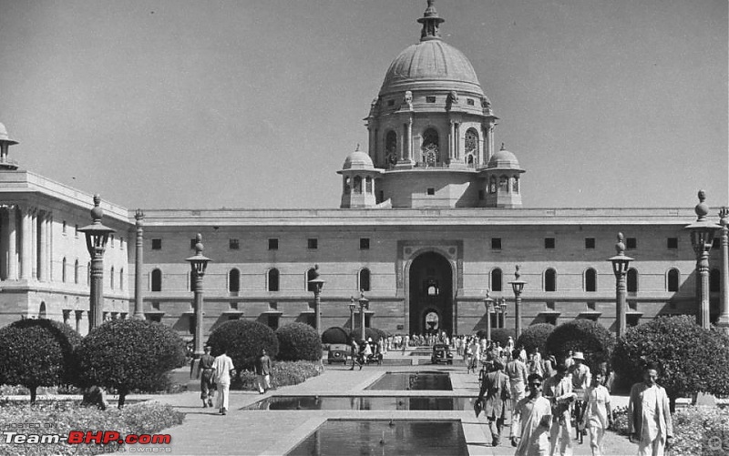
[[[426,0],[0,0],[21,167],[128,208],[338,208]],[[438,0],[525,207],[729,203],[726,0]]]

